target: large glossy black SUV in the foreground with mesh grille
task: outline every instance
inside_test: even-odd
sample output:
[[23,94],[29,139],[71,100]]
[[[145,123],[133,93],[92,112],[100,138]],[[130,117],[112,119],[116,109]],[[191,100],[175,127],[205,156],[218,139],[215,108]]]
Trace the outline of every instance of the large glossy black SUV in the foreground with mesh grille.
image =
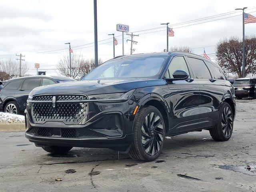
[[32,90],[25,135],[50,153],[110,148],[152,161],[165,136],[206,129],[228,140],[234,98],[220,66],[195,54],[120,56],[81,81]]

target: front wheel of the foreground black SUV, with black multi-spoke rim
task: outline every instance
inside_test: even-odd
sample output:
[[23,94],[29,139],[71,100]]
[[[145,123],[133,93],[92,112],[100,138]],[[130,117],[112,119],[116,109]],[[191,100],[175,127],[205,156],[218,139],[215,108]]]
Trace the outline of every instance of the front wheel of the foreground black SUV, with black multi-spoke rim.
[[162,152],[165,136],[164,118],[160,111],[154,106],[143,107],[135,116],[133,130],[130,157],[139,161],[156,160]]

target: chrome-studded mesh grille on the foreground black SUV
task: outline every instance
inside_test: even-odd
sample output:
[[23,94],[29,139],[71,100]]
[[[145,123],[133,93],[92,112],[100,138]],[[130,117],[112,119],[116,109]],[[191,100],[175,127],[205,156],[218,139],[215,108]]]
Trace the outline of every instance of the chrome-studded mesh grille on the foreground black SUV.
[[[53,96],[36,96],[36,101],[51,101]],[[78,124],[86,118],[88,103],[65,102],[74,100],[86,100],[86,96],[80,95],[58,95],[56,96],[55,107],[52,102],[32,103],[32,116],[36,123],[46,121],[62,121],[65,124]]]

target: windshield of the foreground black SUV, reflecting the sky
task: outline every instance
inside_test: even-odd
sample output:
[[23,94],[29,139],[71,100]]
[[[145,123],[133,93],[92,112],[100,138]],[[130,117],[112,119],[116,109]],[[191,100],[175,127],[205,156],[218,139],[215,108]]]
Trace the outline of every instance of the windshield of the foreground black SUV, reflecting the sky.
[[102,78],[158,78],[167,56],[121,58],[98,66],[82,80]]

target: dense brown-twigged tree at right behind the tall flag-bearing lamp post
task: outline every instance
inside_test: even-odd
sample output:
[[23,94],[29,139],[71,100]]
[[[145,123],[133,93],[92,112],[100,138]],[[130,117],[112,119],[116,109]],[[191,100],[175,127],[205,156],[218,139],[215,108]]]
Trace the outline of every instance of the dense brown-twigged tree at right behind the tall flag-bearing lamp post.
[[[226,72],[242,77],[242,40],[225,38],[216,45],[216,60]],[[256,36],[245,37],[245,75],[256,73]]]

